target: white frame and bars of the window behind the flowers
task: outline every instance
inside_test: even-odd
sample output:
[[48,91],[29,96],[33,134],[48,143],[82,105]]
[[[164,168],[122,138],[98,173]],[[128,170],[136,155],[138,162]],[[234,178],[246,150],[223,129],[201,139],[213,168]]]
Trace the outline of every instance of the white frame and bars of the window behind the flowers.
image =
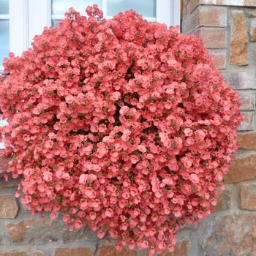
[[[147,1],[147,0],[138,0]],[[156,18],[148,21],[165,23],[167,26],[180,25],[180,1],[156,0]],[[72,1],[70,1],[72,6]],[[103,14],[107,13],[107,0],[102,0]],[[104,15],[105,18],[111,16]],[[36,34],[42,34],[45,26],[51,26],[53,20],[61,20],[64,15],[51,14],[51,0],[9,0],[9,15],[1,15],[1,19],[10,21],[10,52],[20,56],[29,48]],[[0,66],[0,71],[3,67]]]

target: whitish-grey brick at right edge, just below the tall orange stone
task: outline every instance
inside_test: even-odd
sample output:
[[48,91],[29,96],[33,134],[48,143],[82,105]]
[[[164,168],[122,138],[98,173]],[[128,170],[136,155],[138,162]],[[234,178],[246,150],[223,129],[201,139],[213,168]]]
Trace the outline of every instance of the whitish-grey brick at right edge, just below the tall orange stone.
[[223,79],[233,89],[256,89],[256,72],[255,69],[239,69],[223,72]]

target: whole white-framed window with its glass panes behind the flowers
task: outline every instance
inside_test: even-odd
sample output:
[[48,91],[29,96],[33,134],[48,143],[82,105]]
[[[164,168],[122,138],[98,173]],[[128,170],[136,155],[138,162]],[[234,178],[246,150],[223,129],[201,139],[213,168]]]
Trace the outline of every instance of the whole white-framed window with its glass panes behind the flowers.
[[34,35],[45,26],[56,26],[69,7],[85,15],[88,5],[98,4],[105,18],[135,9],[149,21],[179,25],[180,2],[177,0],[0,0],[0,71],[2,60],[11,51],[20,55]]

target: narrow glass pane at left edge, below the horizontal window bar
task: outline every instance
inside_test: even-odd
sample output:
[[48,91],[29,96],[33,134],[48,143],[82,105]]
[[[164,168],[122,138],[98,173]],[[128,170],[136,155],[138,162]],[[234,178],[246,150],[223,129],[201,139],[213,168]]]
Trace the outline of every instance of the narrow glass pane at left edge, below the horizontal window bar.
[[0,66],[9,54],[9,20],[0,20]]

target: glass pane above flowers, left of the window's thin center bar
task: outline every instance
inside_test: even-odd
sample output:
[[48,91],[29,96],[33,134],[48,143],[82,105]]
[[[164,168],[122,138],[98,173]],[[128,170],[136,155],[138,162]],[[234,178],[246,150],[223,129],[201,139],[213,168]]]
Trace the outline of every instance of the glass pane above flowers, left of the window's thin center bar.
[[102,0],[72,0],[72,1],[53,0],[52,14],[53,15],[64,14],[69,10],[70,7],[73,7],[76,11],[84,15],[86,13],[86,7],[93,4],[98,4],[98,7],[102,9]]

